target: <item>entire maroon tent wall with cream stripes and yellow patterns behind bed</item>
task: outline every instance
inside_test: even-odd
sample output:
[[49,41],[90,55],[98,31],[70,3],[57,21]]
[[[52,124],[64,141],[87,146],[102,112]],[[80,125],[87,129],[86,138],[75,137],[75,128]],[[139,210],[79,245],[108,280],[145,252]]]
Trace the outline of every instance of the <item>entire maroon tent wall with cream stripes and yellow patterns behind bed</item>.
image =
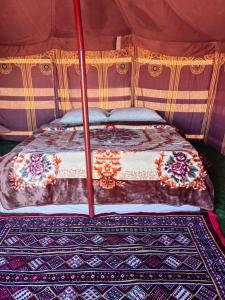
[[[159,55],[143,48],[88,51],[89,106],[149,107],[189,137],[224,153],[224,54]],[[72,51],[0,60],[1,138],[22,140],[43,123],[81,107]]]

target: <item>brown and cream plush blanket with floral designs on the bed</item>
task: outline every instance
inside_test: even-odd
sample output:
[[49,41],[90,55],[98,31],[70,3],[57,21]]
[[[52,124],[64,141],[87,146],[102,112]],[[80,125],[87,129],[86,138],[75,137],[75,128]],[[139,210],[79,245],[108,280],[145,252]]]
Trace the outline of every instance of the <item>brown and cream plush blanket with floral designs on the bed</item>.
[[[213,208],[199,155],[175,128],[107,124],[90,132],[96,203]],[[0,167],[5,208],[87,202],[82,127],[51,125],[3,157]]]

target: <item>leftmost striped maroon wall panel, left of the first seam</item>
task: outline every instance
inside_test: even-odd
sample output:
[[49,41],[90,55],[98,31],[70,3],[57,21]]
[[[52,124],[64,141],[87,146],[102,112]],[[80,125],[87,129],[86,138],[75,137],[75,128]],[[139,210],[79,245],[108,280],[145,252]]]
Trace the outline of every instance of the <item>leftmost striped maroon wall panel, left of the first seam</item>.
[[0,61],[0,124],[3,138],[22,140],[54,119],[53,72],[50,59]]

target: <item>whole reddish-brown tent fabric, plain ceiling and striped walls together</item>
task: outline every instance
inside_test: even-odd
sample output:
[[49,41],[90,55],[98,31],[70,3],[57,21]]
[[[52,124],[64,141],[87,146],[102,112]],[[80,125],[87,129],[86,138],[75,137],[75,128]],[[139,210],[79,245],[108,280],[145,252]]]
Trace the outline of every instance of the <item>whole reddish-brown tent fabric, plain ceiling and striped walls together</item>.
[[[22,140],[80,106],[73,1],[0,5],[1,138]],[[225,153],[223,1],[81,6],[89,105],[153,108],[187,137]]]

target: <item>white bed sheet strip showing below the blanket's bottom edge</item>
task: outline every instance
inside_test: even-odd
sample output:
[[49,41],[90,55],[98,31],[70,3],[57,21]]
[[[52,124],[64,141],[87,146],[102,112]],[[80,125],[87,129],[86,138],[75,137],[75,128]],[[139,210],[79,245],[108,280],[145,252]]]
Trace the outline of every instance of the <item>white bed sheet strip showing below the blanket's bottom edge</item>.
[[[166,204],[114,204],[114,205],[95,205],[95,214],[103,213],[139,213],[139,212],[198,212],[199,207],[192,205],[171,206]],[[67,204],[67,205],[43,205],[28,206],[17,209],[4,209],[0,204],[0,213],[11,214],[85,214],[88,215],[87,204]]]

